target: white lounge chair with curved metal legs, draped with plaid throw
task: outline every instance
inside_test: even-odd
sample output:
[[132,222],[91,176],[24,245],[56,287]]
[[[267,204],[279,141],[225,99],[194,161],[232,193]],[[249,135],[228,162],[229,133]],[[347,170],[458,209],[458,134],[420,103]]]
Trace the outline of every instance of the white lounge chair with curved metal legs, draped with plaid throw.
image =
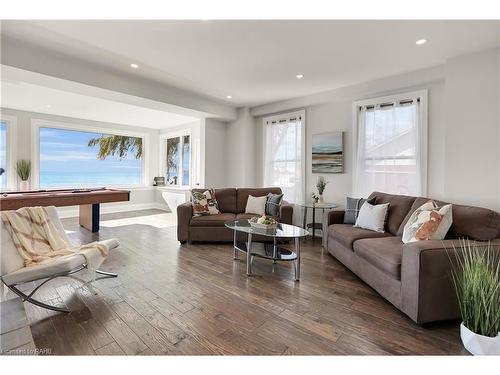
[[[71,246],[71,242],[64,231],[57,210],[55,207],[47,207],[47,213],[53,223],[56,225],[59,232],[63,235],[64,239]],[[41,264],[39,266],[24,267],[23,258],[19,255],[18,251],[14,246],[14,242],[10,237],[9,233],[5,228],[1,228],[1,243],[2,247],[0,249],[0,280],[12,290],[15,294],[23,299],[23,301],[30,302],[36,306],[43,307],[49,310],[55,310],[60,312],[70,312],[70,310],[47,305],[43,302],[37,301],[33,298],[35,292],[40,289],[41,286],[45,285],[52,279],[56,277],[68,276],[79,272],[87,267],[85,264],[86,260],[82,254],[71,254],[55,259],[51,263]],[[117,240],[105,240],[103,241],[108,245],[109,249],[116,248],[119,243]],[[103,275],[104,277],[117,277],[118,275],[111,272],[104,272],[97,270],[96,273]],[[31,281],[42,280],[35,289],[33,289],[29,294],[25,294],[20,291],[17,286],[20,284],[28,283]]]

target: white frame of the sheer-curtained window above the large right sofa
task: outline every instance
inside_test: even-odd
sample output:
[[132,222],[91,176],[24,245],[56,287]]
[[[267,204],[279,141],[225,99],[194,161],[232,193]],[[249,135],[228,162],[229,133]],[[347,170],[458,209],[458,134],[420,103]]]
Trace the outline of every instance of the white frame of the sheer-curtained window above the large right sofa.
[[428,90],[418,90],[411,92],[402,92],[400,94],[381,96],[376,98],[370,98],[365,100],[358,100],[353,103],[352,113],[353,113],[353,137],[352,137],[352,160],[353,160],[353,173],[352,173],[352,191],[351,194],[354,194],[356,189],[356,175],[357,175],[357,165],[358,165],[358,124],[359,124],[359,107],[377,105],[380,103],[392,103],[400,100],[410,99],[410,98],[420,98],[420,106],[419,106],[419,119],[420,126],[418,131],[420,132],[420,165],[422,166],[421,177],[422,181],[420,181],[421,185],[421,195],[427,195],[427,159],[428,159]]

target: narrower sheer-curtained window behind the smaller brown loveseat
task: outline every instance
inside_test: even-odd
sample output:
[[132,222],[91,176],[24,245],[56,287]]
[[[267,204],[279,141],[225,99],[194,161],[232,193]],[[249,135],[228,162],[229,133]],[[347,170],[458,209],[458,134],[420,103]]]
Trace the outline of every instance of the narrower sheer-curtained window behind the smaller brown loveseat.
[[284,199],[304,200],[304,112],[264,119],[264,185],[279,186]]

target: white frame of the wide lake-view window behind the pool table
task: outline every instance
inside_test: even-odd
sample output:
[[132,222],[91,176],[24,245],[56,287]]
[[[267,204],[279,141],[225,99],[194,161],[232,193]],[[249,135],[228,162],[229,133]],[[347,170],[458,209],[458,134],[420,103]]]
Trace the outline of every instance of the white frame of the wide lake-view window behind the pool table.
[[[39,118],[33,118],[31,120],[31,184],[33,189],[40,188],[40,128],[53,128],[62,130],[75,130],[87,133],[101,133],[109,135],[122,135],[127,137],[137,137],[142,138],[142,149],[143,155],[141,158],[141,184],[118,184],[118,185],[106,185],[107,187],[113,188],[141,188],[151,185],[149,176],[149,165],[150,165],[150,137],[148,133],[134,132],[129,130],[122,130],[119,128],[108,128],[108,127],[96,127],[88,126],[79,123],[71,122],[60,122],[60,121],[49,121]],[[89,186],[93,187],[93,186]],[[97,186],[95,186],[97,187]],[[102,186],[99,186],[102,187]],[[61,188],[74,188],[74,186],[62,186]]]

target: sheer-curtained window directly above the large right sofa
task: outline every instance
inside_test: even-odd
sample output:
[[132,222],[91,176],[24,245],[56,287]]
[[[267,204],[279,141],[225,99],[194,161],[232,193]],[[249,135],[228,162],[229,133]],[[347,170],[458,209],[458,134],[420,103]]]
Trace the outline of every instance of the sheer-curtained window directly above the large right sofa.
[[426,93],[357,103],[354,191],[425,195]]

